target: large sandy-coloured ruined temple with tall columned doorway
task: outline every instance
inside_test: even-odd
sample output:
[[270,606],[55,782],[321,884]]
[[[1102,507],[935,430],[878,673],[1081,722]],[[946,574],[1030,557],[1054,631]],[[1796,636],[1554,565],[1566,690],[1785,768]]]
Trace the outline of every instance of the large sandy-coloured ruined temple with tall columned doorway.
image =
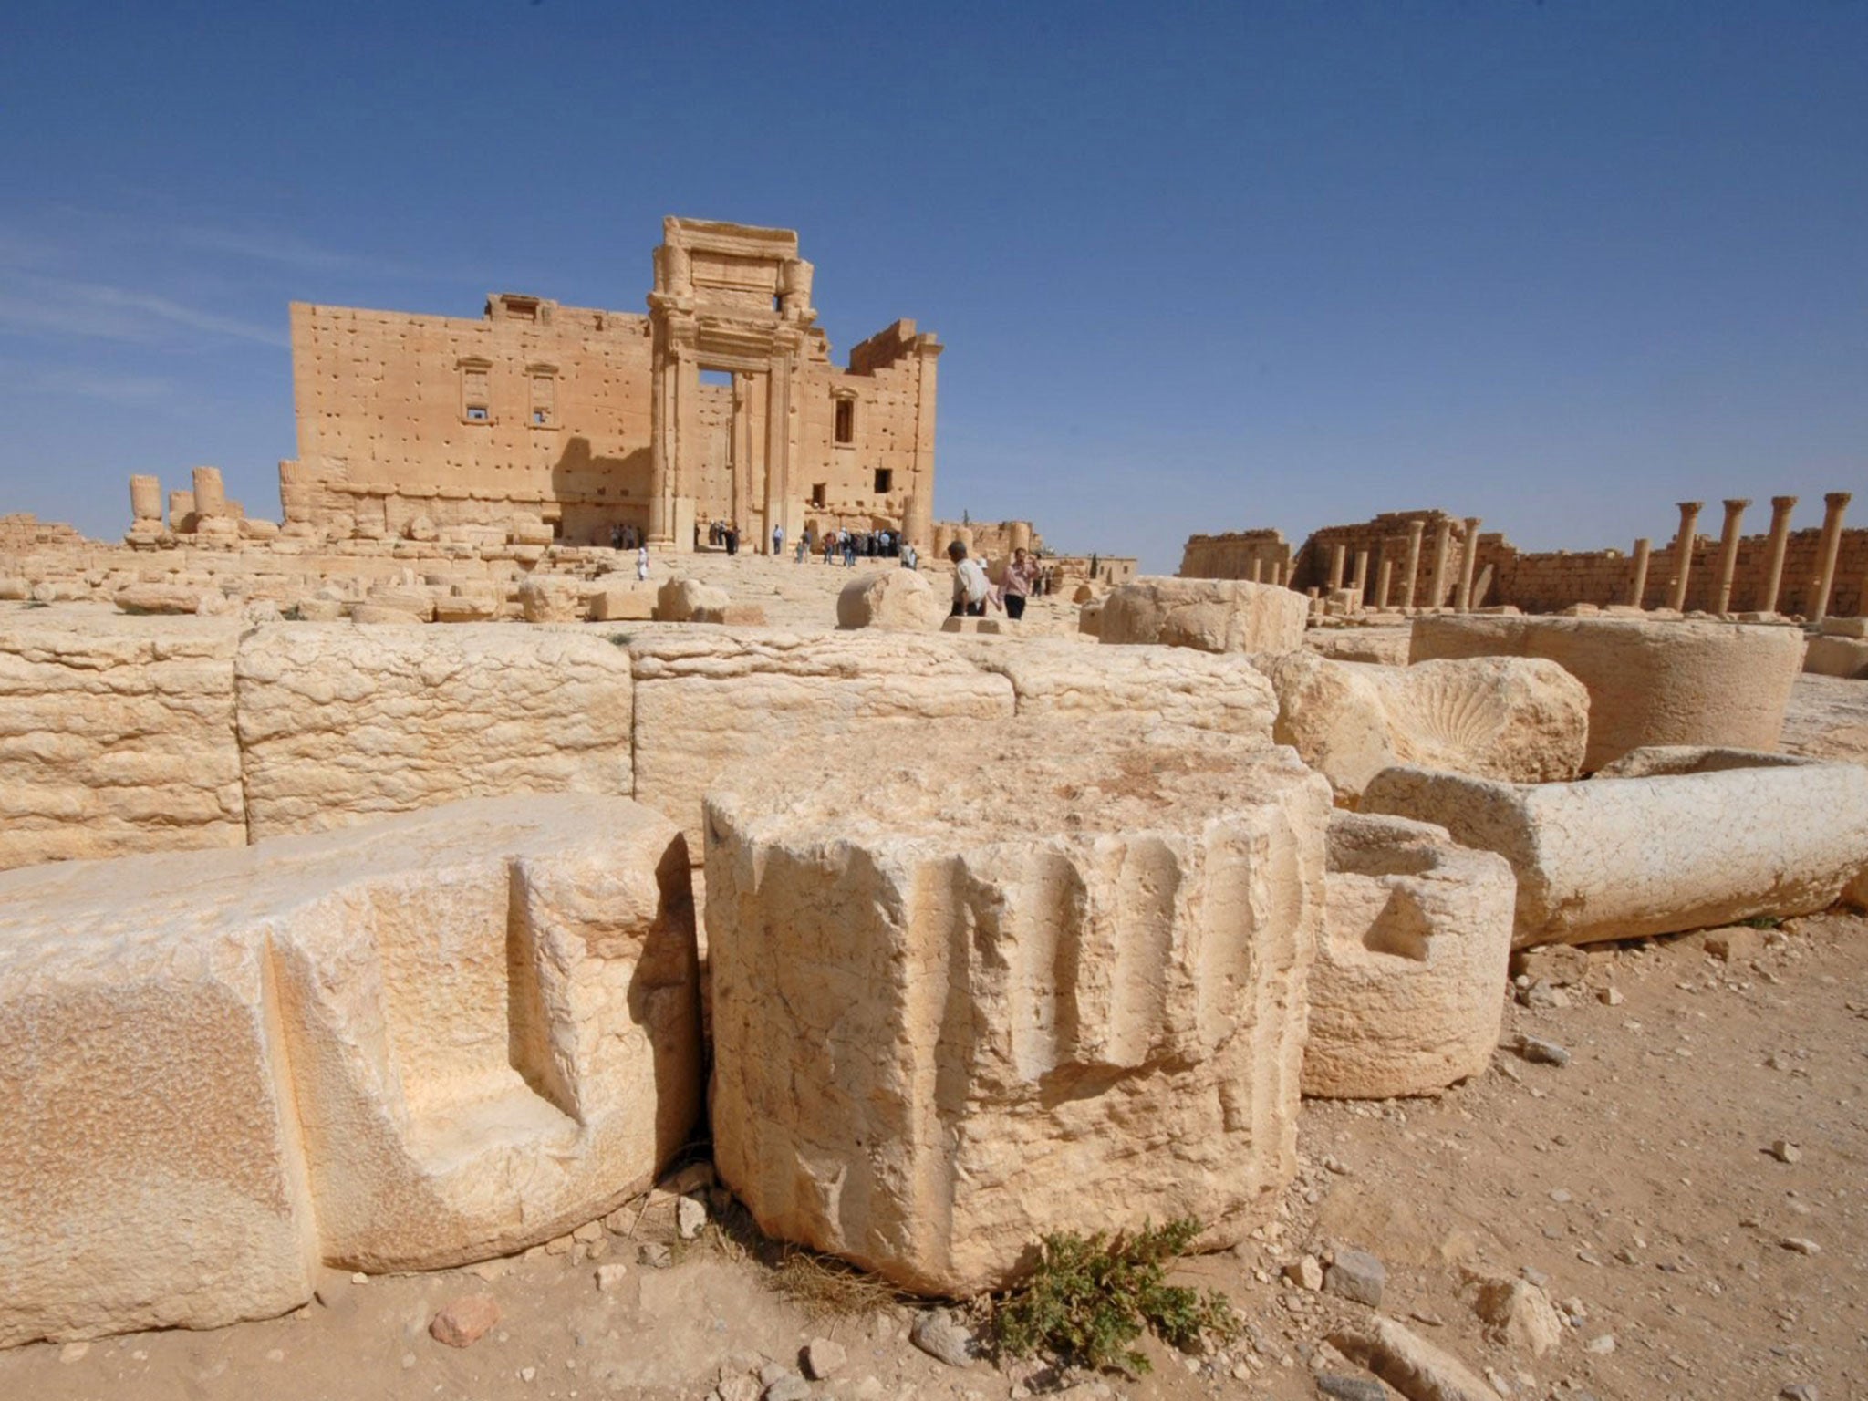
[[286,523],[430,536],[516,517],[568,544],[745,547],[805,525],[932,544],[938,336],[895,321],[846,368],[790,230],[663,220],[648,314],[488,297],[480,319],[291,306]]

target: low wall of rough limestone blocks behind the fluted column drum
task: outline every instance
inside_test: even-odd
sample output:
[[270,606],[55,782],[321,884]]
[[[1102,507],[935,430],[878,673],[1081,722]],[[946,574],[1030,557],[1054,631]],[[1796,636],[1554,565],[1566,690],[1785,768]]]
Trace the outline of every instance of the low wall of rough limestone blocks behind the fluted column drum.
[[779,749],[1138,706],[1268,743],[1276,712],[1242,661],[1156,646],[30,616],[0,630],[0,869],[525,792],[633,796],[699,857],[708,785]]

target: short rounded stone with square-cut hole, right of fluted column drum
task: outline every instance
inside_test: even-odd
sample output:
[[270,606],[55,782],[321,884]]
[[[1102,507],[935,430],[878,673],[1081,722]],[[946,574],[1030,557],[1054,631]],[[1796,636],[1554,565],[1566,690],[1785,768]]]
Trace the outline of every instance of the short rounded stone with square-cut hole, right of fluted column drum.
[[1442,828],[1337,813],[1304,1093],[1422,1095],[1485,1070],[1504,1020],[1511,867]]

